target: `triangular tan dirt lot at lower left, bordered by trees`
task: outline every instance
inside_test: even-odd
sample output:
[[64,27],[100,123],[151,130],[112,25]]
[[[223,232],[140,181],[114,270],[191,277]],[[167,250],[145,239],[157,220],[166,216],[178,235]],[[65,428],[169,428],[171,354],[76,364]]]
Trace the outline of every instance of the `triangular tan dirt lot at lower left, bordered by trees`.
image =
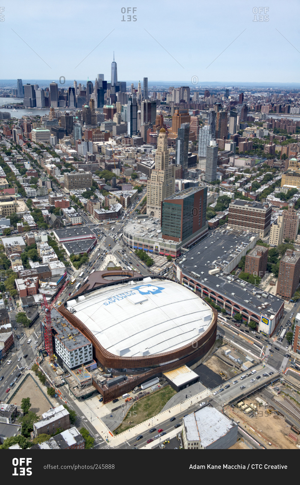
[[[41,384],[39,383],[41,387]],[[36,382],[32,375],[30,375],[26,381],[18,388],[17,394],[12,400],[12,404],[21,405],[23,397],[29,397],[31,402],[31,411],[41,416],[42,413],[49,411],[50,407],[55,404],[50,404],[50,399],[43,394],[43,392],[38,388]]]

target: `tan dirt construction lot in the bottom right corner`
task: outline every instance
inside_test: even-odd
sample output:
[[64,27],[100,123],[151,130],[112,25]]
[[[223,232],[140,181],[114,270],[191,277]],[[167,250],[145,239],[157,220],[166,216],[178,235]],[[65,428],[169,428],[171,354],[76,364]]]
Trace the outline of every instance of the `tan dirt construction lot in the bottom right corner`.
[[[245,403],[253,402],[249,399]],[[266,448],[274,450],[295,450],[296,444],[287,435],[290,433],[290,426],[284,421],[284,418],[275,414],[268,415],[264,407],[258,408],[258,416],[250,418],[249,415],[244,414],[242,410],[237,407],[234,409],[226,406],[225,412],[228,416],[232,416],[234,420],[239,420],[239,426],[245,428],[246,431],[254,438],[257,438]],[[272,443],[271,446],[268,442]]]

